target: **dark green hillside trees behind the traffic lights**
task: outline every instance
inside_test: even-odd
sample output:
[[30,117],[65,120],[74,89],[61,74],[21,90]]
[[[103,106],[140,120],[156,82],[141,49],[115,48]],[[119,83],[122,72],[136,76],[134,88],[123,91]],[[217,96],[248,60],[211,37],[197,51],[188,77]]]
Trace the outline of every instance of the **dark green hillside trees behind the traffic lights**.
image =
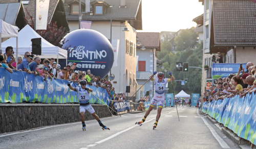
[[[189,63],[189,66],[201,67],[202,68],[202,59],[203,59],[203,43],[194,44],[192,41],[197,41],[197,34],[192,33],[192,29],[184,30],[184,33],[189,33],[189,36],[184,40],[190,39],[191,45],[186,49],[177,52],[176,54],[172,53],[172,48],[170,43],[163,42],[161,52],[157,52],[157,58],[163,62],[163,67],[167,71],[171,71],[175,77],[175,80],[184,80],[188,79],[188,82],[182,86],[181,82],[173,82],[173,87],[175,93],[178,93],[181,90],[184,90],[187,93],[200,93],[201,92],[201,78],[202,78],[202,69],[200,68],[189,68],[188,72],[176,71],[176,62]],[[195,28],[194,28],[195,30]],[[193,31],[194,31],[193,30]],[[181,33],[180,33],[181,34]],[[187,34],[188,35],[188,34]],[[177,38],[177,37],[176,37]],[[181,38],[180,38],[181,39]],[[179,40],[180,40],[179,39]],[[183,41],[180,41],[183,42]],[[185,41],[184,41],[185,42]],[[190,47],[193,46],[193,47]],[[160,67],[157,68],[157,71],[164,72]],[[166,78],[169,77],[166,72]],[[169,91],[168,93],[173,93],[172,85],[168,84]]]

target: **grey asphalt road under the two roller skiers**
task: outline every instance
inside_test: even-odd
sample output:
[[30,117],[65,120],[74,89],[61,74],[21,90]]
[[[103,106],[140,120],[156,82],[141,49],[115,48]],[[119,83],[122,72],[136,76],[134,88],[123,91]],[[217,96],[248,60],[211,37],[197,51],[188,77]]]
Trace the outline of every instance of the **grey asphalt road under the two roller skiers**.
[[0,135],[0,148],[239,148],[198,114],[195,107],[164,108],[153,130],[157,111],[142,126],[135,125],[144,113],[102,118],[111,130],[102,130],[96,120],[44,127]]

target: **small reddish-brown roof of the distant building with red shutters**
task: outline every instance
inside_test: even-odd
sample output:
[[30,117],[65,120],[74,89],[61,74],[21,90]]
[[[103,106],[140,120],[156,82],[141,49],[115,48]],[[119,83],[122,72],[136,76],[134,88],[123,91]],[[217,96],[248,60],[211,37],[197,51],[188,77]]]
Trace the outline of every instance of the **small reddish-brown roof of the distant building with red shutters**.
[[157,48],[157,51],[161,51],[160,33],[158,32],[137,32],[137,38],[142,47],[145,48]]

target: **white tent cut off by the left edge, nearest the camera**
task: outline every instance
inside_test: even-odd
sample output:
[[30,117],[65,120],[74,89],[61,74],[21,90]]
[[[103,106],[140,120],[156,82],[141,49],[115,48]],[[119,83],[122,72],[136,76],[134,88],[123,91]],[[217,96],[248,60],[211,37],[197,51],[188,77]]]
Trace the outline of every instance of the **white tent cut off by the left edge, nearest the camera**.
[[[5,51],[2,48],[2,38],[11,38],[11,37],[16,37],[11,38],[12,40],[12,45],[16,42],[16,53],[18,51],[18,27],[12,26],[11,24],[8,24],[7,22],[3,21],[0,19],[0,49],[2,49],[2,53],[5,53]],[[15,41],[16,40],[16,41]],[[16,59],[18,56],[16,56]]]

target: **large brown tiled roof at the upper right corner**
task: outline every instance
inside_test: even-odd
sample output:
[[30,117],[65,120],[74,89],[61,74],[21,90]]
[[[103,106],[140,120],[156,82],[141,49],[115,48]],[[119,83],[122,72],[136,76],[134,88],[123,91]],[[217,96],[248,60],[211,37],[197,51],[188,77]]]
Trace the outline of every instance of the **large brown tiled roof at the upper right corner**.
[[[239,11],[238,11],[239,10]],[[247,0],[213,3],[215,45],[256,45],[256,3]]]

